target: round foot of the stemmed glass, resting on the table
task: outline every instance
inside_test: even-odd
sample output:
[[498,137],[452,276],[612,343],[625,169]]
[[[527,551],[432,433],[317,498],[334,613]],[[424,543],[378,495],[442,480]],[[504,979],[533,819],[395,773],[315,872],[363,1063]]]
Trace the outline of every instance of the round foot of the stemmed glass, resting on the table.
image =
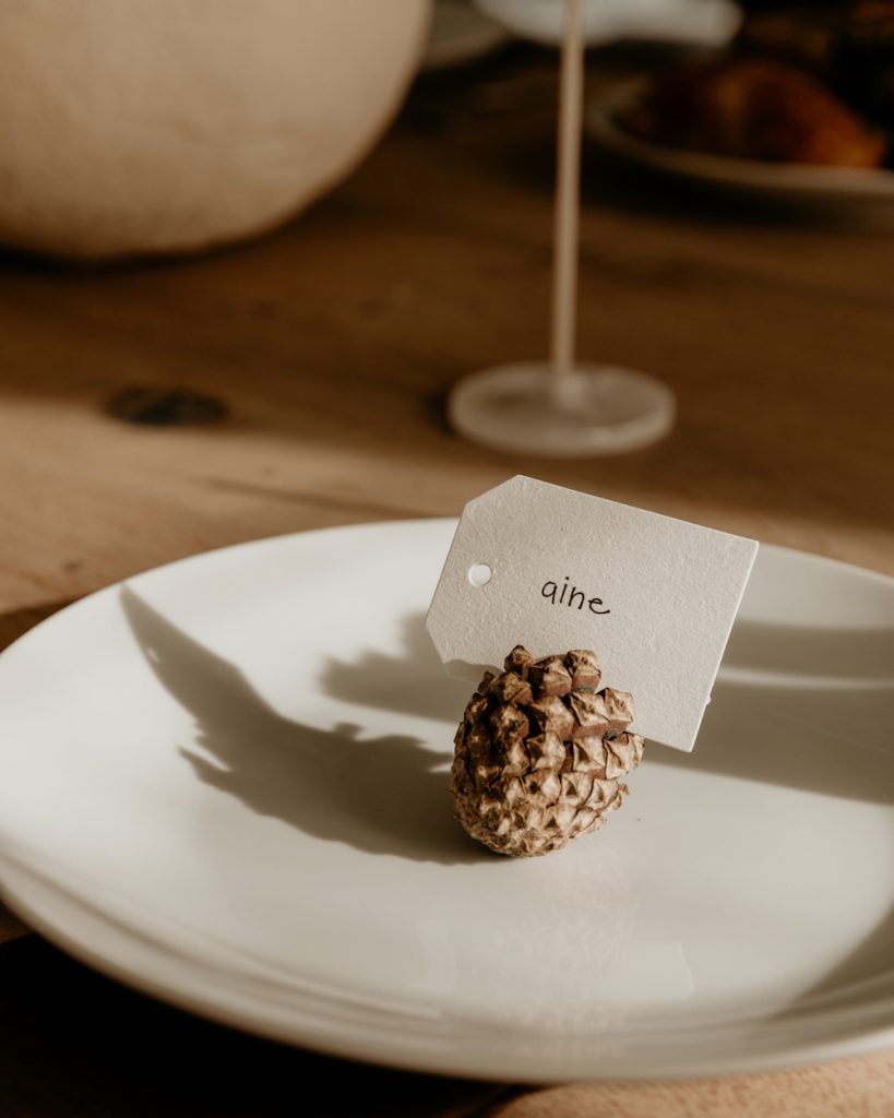
[[639,451],[675,415],[669,388],[615,366],[578,366],[561,380],[546,363],[498,366],[465,377],[448,400],[450,424],[469,442],[558,458]]

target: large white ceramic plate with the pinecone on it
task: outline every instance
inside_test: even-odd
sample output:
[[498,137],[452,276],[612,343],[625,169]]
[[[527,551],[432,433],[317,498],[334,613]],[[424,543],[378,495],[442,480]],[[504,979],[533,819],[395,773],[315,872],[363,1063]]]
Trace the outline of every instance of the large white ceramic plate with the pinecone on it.
[[531,861],[450,814],[454,531],[245,544],[0,657],[0,882],[97,968],[279,1040],[565,1080],[894,1044],[891,579],[761,550],[694,754]]

